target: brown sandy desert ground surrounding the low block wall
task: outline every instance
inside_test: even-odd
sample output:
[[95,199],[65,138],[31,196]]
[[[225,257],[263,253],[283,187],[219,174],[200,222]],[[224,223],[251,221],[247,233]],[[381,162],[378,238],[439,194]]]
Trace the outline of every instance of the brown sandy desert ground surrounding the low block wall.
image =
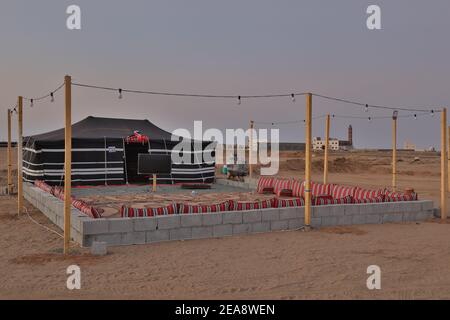
[[[0,150],[0,183],[6,161]],[[302,177],[302,152],[285,152],[280,176]],[[314,154],[313,178],[322,177]],[[332,153],[330,182],[389,186],[390,153]],[[439,200],[439,156],[399,152],[400,189]],[[60,232],[26,203],[0,196],[2,299],[450,299],[450,224],[438,219],[323,228],[221,239],[109,248],[103,257],[72,245],[61,255]],[[81,290],[66,288],[66,268],[81,267]],[[368,290],[369,265],[382,272],[382,289]]]

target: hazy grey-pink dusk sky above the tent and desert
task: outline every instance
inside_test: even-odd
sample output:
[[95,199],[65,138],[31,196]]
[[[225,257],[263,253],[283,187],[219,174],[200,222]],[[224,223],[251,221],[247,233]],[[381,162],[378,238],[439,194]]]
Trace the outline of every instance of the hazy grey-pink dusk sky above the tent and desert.
[[[81,8],[68,30],[66,8]],[[366,26],[381,8],[381,30]],[[1,0],[0,140],[17,96],[42,96],[74,82],[137,90],[218,95],[316,92],[389,106],[449,106],[448,0]],[[63,91],[24,106],[24,135],[64,125]],[[313,99],[315,116],[386,116]],[[406,114],[400,112],[400,114]],[[89,115],[149,119],[163,129],[248,128],[250,120],[305,117],[305,99],[195,99],[73,88],[72,120]],[[13,121],[16,121],[14,117]],[[331,135],[353,126],[358,148],[388,148],[391,122],[333,119]],[[259,127],[262,127],[261,125]],[[267,127],[265,125],[264,127]],[[276,126],[275,126],[276,127]],[[269,126],[271,128],[271,126]],[[303,124],[280,125],[281,141],[304,141]],[[16,137],[16,123],[13,138]],[[324,120],[313,124],[323,136]],[[400,119],[398,141],[439,147],[440,119]]]

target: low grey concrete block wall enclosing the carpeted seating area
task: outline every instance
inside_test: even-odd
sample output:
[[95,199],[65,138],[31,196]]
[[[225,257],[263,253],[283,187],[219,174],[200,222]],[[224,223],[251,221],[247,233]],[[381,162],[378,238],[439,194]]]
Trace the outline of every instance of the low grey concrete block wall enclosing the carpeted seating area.
[[[63,202],[31,185],[26,199],[58,227],[63,228]],[[170,240],[217,238],[250,233],[296,230],[304,226],[304,207],[269,208],[209,214],[185,214],[146,218],[92,219],[72,209],[72,237],[90,247],[94,241],[110,246]],[[330,205],[312,207],[316,228],[423,221],[433,217],[432,201]]]

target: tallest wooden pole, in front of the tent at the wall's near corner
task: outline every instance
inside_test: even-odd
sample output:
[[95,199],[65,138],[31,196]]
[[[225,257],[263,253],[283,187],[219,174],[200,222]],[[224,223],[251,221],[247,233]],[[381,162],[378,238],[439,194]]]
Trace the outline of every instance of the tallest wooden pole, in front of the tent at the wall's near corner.
[[72,207],[72,78],[65,76],[64,254],[69,254]]

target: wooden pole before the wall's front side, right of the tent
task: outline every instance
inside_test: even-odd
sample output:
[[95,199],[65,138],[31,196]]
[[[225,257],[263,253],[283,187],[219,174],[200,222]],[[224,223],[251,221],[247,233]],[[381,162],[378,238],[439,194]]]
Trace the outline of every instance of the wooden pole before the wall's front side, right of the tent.
[[305,129],[305,226],[311,225],[311,121],[312,94],[306,94]]

